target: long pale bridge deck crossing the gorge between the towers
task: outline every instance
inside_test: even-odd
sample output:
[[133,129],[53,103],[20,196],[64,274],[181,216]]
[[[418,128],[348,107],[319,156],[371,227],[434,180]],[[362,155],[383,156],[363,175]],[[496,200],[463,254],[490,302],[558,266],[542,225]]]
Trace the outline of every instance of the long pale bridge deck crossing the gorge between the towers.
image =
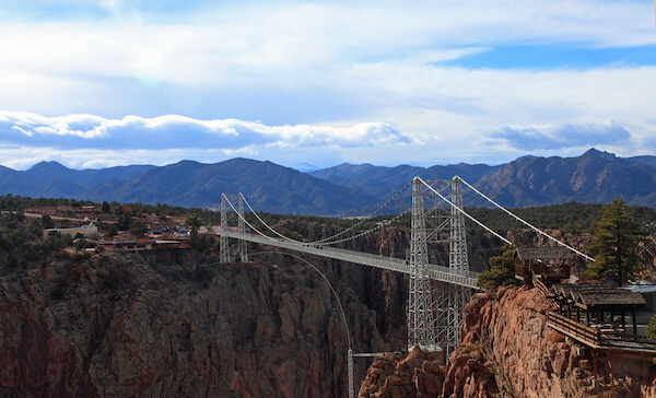
[[[410,273],[410,265],[402,259],[394,258],[394,257],[383,257],[371,255],[367,253],[360,253],[354,250],[347,250],[336,247],[326,247],[313,245],[313,244],[303,244],[303,243],[293,243],[289,241],[283,241],[282,238],[273,238],[273,237],[263,237],[260,235],[254,234],[245,234],[238,233],[234,231],[218,231],[216,235],[219,236],[227,236],[235,239],[243,239],[247,242],[259,243],[262,245],[276,246],[281,248],[286,248],[290,250],[306,253],[314,256],[335,258],[338,260],[344,260],[349,262],[362,264],[368,267],[383,268],[391,271]],[[476,285],[476,281],[478,280],[478,272],[468,271],[466,273],[459,274],[454,273],[449,270],[448,267],[429,265],[429,270],[426,276],[430,279],[454,283],[467,288],[480,289]]]

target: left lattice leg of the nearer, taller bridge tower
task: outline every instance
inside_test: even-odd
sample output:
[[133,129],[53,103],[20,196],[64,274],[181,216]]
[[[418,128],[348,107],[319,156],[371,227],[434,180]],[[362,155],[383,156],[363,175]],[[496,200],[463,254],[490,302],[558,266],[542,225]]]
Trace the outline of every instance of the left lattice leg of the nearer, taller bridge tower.
[[426,278],[429,248],[422,182],[412,180],[412,231],[410,235],[410,289],[408,297],[408,349],[435,350],[435,321],[431,281]]

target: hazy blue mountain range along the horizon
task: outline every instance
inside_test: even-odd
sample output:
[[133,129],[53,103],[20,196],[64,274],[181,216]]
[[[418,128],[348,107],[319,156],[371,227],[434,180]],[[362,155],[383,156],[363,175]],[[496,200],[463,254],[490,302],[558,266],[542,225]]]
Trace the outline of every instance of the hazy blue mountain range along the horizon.
[[[27,171],[0,166],[0,195],[206,208],[219,203],[222,192],[242,192],[258,211],[339,215],[374,209],[414,176],[454,175],[506,208],[607,203],[618,197],[629,204],[656,208],[656,156],[618,157],[595,149],[576,157],[523,156],[495,166],[341,164],[308,173],[242,157],[82,171],[42,162]],[[464,189],[466,206],[487,206],[468,191]],[[406,210],[409,197],[399,203],[395,210]]]

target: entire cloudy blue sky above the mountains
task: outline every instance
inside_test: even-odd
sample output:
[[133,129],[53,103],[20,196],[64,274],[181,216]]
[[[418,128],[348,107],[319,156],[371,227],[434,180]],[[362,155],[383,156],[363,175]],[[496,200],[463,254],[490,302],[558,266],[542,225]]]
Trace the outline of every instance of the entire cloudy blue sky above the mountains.
[[656,155],[649,1],[0,1],[0,164]]

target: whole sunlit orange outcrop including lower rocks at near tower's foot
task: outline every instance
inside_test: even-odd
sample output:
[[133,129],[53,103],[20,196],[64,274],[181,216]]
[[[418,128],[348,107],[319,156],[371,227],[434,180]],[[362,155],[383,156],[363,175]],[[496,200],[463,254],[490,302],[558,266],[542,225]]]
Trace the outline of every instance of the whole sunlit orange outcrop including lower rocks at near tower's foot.
[[[548,311],[537,290],[505,286],[477,294],[467,304],[461,341],[443,372],[435,361],[418,361],[415,351],[408,358],[388,355],[370,367],[360,396],[656,397],[653,370],[648,377],[636,376],[631,366],[621,366],[624,360],[609,362],[565,339],[547,326]],[[426,368],[435,370],[431,377],[444,379],[438,391],[419,387]]]

